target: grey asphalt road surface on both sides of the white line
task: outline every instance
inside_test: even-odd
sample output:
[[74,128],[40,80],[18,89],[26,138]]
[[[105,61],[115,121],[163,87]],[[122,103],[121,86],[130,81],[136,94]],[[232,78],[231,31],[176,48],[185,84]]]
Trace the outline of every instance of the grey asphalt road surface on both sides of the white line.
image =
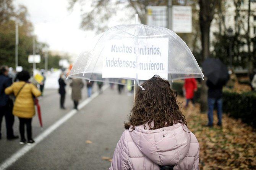
[[[95,84],[96,85],[96,84]],[[94,87],[96,91],[96,87]],[[86,87],[83,100],[86,99]],[[56,89],[46,89],[40,99],[44,130],[65,116],[73,108],[70,95],[66,96],[67,110],[59,108],[59,95]],[[110,162],[102,157],[112,158],[117,141],[123,133],[123,122],[133,105],[133,96],[125,92],[118,94],[106,89],[81,108],[68,121],[54,130],[28,153],[19,158],[8,169],[11,170],[52,170],[52,169],[108,169]],[[0,140],[0,164],[16,153],[20,148],[19,140],[5,139],[5,123],[2,122],[2,140]],[[18,135],[18,119],[15,119],[15,134]],[[37,116],[32,122],[33,137],[42,133]],[[86,143],[90,140],[92,143]]]

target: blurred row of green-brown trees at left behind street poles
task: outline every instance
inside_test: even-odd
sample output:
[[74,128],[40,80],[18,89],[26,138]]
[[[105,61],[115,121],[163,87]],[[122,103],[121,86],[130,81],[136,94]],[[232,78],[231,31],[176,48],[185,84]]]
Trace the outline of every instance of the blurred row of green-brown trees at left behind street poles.
[[[12,0],[0,1],[0,65],[15,68],[15,23],[19,24],[18,65],[23,69],[31,70],[32,64],[28,63],[28,55],[32,54],[33,25],[28,20],[28,10],[25,6],[15,9]],[[36,54],[41,55],[41,63],[37,68],[44,68],[44,49],[48,45],[36,42]],[[48,68],[58,68],[59,55],[48,55]]]

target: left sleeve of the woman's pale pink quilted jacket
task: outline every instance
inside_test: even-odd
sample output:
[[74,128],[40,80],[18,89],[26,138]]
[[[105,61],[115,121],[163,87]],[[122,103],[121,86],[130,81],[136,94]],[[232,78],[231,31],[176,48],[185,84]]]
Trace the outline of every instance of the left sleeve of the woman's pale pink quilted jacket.
[[115,152],[113,154],[113,159],[111,163],[111,167],[109,170],[128,170],[128,159],[129,159],[129,151],[127,145],[127,136],[126,133],[129,133],[128,130],[125,130],[117,143],[115,148]]

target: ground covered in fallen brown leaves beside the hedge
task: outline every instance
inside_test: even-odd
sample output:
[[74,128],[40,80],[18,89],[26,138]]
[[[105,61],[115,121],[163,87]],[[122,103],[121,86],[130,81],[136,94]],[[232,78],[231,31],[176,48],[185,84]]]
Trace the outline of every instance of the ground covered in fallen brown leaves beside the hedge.
[[199,141],[200,169],[256,170],[256,132],[250,126],[223,114],[223,125],[219,127],[214,113],[214,127],[204,127],[208,118],[200,113],[199,104],[182,111]]

